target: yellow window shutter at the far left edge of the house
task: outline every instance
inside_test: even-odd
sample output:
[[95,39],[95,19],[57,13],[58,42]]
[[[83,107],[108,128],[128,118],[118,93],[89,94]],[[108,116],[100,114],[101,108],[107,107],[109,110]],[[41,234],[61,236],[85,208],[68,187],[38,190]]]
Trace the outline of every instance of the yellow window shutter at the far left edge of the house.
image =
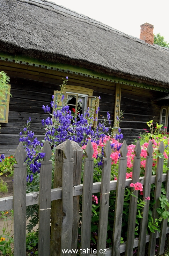
[[8,90],[0,92],[0,123],[8,123],[10,91],[9,84]]

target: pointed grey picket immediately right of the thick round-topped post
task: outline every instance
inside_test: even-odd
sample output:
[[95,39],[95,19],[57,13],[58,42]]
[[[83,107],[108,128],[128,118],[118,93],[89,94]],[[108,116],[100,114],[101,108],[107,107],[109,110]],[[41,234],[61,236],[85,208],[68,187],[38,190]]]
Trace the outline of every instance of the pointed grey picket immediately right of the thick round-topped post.
[[[81,228],[81,248],[86,253],[81,256],[89,256],[90,237],[91,237],[91,219],[92,219],[92,190],[93,190],[93,147],[91,140],[88,140],[85,148],[86,158],[84,159],[83,173],[83,197],[82,197],[82,228]],[[82,250],[82,252],[83,252]]]

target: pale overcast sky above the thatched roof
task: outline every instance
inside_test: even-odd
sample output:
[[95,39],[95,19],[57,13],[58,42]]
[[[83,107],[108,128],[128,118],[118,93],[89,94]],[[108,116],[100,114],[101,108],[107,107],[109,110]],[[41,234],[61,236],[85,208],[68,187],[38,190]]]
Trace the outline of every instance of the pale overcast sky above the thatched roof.
[[128,35],[140,36],[140,25],[154,25],[154,34],[160,32],[169,43],[169,0],[52,0],[78,13],[101,21]]

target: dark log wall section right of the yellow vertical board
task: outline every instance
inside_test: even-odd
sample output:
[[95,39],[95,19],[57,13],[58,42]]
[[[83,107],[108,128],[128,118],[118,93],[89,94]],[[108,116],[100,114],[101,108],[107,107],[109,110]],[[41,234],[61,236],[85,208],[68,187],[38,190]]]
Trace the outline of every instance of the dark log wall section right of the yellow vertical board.
[[121,86],[121,105],[120,110],[124,111],[120,123],[123,139],[127,144],[131,144],[143,129],[148,129],[147,121],[153,120],[153,123],[159,123],[160,103],[154,103],[153,100],[162,97],[163,92],[137,88],[134,86]]

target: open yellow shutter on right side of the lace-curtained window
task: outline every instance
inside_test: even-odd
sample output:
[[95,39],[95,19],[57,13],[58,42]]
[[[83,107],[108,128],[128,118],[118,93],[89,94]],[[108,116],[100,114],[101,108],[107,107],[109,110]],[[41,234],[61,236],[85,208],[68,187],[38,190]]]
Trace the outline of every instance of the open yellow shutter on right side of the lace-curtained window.
[[96,110],[99,107],[99,97],[94,97],[94,96],[88,96],[87,100],[87,108],[89,108],[89,113],[93,115],[94,119],[97,121],[94,121],[92,126],[95,128],[97,126],[98,122],[98,111],[96,114]]

